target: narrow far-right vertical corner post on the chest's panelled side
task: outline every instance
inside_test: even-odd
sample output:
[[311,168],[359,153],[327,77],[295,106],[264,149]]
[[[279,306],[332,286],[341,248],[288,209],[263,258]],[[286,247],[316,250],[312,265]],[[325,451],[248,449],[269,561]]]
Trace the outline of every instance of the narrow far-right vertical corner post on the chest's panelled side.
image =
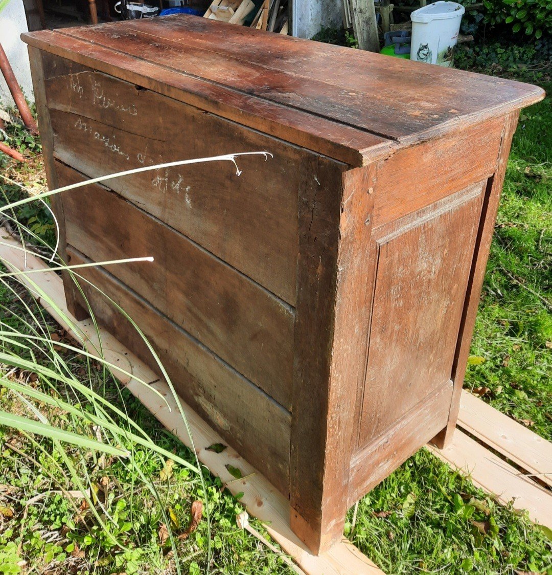
[[504,183],[508,155],[512,145],[512,137],[518,125],[518,118],[519,112],[514,112],[504,117],[500,150],[495,163],[495,174],[487,183],[479,230],[477,232],[472,270],[470,271],[468,289],[466,291],[466,302],[464,304],[460,333],[458,335],[454,356],[452,370],[454,393],[450,406],[449,422],[446,428],[434,438],[435,445],[441,448],[446,447],[452,439],[454,425],[456,425],[458,417],[458,409],[460,409],[460,394],[462,392],[462,385],[464,384],[469,348],[472,342],[473,328],[475,327],[481,288],[485,277],[485,269],[487,268],[487,260],[489,259],[489,250],[491,249],[491,241],[495,229],[496,214],[499,209],[500,193]]

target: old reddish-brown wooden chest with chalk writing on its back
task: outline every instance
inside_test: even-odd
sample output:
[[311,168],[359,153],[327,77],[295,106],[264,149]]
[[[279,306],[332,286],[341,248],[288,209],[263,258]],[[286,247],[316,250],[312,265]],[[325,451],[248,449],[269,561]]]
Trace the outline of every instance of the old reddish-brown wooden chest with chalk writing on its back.
[[[456,423],[518,82],[192,16],[24,34],[60,254],[311,550]],[[65,277],[77,315],[84,302]],[[82,282],[98,320],[157,366]]]

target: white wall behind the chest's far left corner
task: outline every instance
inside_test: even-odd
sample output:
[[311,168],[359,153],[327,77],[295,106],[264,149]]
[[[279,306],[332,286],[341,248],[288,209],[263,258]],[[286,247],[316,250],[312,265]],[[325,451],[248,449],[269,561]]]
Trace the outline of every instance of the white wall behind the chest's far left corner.
[[[0,12],[0,43],[13,68],[17,82],[23,88],[23,93],[31,102],[34,102],[27,45],[20,39],[22,32],[27,32],[23,0],[10,0]],[[3,108],[13,104],[10,91],[0,73],[0,106]]]

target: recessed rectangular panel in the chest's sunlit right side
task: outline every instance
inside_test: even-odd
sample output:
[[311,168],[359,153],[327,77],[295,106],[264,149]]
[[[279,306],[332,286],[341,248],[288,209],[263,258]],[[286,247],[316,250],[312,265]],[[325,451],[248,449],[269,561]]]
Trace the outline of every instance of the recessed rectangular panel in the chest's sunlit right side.
[[359,446],[451,378],[484,182],[377,232]]

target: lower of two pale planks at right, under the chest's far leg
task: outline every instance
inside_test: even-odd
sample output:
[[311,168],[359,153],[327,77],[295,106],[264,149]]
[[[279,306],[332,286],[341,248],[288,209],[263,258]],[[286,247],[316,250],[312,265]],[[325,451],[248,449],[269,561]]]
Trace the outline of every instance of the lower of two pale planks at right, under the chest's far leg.
[[432,453],[470,477],[474,485],[496,494],[503,504],[527,509],[532,521],[552,528],[552,494],[460,430],[448,447]]

